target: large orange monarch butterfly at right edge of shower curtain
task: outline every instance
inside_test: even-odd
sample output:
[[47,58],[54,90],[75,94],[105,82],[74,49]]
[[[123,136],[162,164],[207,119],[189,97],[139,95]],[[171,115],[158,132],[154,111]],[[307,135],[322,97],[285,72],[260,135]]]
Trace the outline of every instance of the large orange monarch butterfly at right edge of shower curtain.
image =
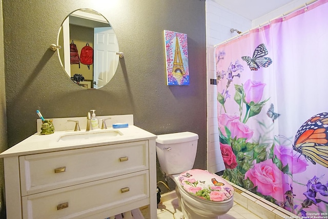
[[312,116],[298,129],[293,149],[328,168],[328,112]]

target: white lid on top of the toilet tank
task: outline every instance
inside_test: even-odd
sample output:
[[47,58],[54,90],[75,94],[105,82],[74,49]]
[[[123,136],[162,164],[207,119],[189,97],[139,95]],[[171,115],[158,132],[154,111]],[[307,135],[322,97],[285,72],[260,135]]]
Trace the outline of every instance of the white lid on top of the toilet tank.
[[193,132],[178,132],[157,135],[156,142],[162,145],[178,144],[198,140],[198,134]]

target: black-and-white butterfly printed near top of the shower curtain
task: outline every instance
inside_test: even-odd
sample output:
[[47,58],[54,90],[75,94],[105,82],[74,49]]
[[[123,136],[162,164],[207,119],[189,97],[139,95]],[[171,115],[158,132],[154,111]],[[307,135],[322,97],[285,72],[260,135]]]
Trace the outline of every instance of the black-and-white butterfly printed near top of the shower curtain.
[[260,44],[255,48],[252,58],[250,56],[241,56],[241,59],[247,63],[251,71],[257,71],[260,66],[267,68],[272,64],[272,59],[264,57],[265,55],[268,55],[268,50],[264,44]]

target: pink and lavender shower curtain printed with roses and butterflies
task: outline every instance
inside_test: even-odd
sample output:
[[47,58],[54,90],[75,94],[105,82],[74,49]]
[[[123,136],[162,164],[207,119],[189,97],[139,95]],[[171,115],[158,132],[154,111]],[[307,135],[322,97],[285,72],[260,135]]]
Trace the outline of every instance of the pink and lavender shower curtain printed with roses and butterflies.
[[328,218],[327,2],[215,48],[223,177],[305,218]]

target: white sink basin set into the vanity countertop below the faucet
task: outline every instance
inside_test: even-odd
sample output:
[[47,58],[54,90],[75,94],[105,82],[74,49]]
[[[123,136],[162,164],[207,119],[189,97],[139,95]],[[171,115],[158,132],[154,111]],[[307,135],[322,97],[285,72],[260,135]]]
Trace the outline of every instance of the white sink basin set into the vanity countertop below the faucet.
[[106,130],[106,131],[91,131],[91,132],[80,132],[73,134],[65,134],[59,137],[58,142],[68,142],[68,141],[103,141],[107,138],[116,137],[123,135],[118,130]]

